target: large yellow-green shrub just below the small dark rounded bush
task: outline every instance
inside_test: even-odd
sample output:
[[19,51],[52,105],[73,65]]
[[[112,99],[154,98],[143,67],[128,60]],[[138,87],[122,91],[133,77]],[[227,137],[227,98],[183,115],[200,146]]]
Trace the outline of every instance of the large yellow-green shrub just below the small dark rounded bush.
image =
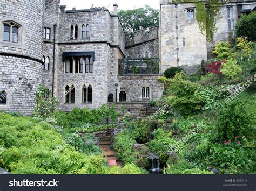
[[173,107],[174,111],[191,115],[201,108],[201,100],[196,96],[198,88],[198,84],[187,80],[184,72],[176,73],[170,86],[173,96],[168,97],[167,103]]

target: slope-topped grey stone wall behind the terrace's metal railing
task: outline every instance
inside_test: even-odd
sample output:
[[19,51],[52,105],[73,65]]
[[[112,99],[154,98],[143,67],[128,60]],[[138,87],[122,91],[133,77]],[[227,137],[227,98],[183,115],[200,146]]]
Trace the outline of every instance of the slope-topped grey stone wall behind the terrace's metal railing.
[[147,30],[134,32],[134,37],[130,34],[125,36],[125,56],[130,58],[144,58],[144,53],[149,52],[150,58],[159,57],[159,26],[149,27]]

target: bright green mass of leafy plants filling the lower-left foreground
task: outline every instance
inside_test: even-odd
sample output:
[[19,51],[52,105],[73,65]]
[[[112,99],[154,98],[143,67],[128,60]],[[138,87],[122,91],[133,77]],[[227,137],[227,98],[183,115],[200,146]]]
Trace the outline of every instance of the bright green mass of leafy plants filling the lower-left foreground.
[[105,174],[99,155],[79,153],[45,122],[0,114],[0,166],[14,174]]

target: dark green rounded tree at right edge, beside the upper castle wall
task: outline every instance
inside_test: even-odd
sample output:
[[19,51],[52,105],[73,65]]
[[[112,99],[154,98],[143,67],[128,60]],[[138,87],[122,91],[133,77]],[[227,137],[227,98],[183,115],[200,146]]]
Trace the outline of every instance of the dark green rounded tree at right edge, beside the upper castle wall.
[[235,31],[237,37],[248,37],[251,41],[256,40],[256,12],[252,12],[249,15],[243,15],[238,20]]

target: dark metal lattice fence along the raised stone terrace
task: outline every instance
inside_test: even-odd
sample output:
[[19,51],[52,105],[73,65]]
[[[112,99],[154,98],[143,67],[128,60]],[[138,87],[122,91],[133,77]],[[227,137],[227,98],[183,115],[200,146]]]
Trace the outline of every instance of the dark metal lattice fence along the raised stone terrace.
[[159,59],[138,58],[119,59],[119,75],[125,74],[159,74]]

